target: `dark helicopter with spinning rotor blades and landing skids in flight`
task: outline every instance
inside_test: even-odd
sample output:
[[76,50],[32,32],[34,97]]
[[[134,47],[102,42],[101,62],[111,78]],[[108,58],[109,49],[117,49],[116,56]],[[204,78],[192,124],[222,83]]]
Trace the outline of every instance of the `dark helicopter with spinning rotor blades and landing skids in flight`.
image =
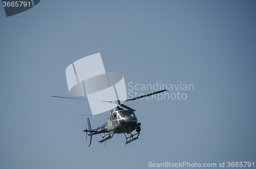
[[[89,117],[86,120],[86,123],[88,125],[88,129],[83,130],[83,132],[86,132],[86,140],[88,141],[89,136],[89,146],[92,143],[92,136],[95,134],[101,134],[104,133],[102,136],[102,139],[99,140],[100,143],[105,142],[106,140],[109,140],[113,137],[114,134],[121,134],[123,133],[125,135],[125,144],[131,143],[132,141],[139,138],[140,131],[141,131],[141,123],[138,123],[138,119],[134,113],[134,109],[122,104],[127,101],[134,101],[141,98],[145,98],[147,96],[158,94],[161,92],[164,92],[167,90],[160,90],[153,93],[148,93],[142,96],[138,96],[136,98],[127,99],[127,100],[115,100],[115,101],[100,101],[100,102],[109,102],[112,104],[116,104],[116,108],[110,111],[110,115],[108,116],[108,122],[105,124],[99,126],[96,129],[92,130],[91,123]],[[66,98],[62,96],[52,96],[54,98]],[[66,98],[66,99],[77,99],[77,98]],[[77,100],[87,100],[87,99],[77,99]],[[123,108],[121,108],[123,107]],[[136,133],[132,134],[133,131],[136,131]],[[126,135],[126,134],[127,135]]]

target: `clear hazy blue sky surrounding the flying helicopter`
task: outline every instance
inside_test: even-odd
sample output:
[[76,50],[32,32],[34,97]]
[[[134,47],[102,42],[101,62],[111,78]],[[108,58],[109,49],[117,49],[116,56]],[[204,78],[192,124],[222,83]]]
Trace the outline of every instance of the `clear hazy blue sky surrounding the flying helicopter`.
[[[254,1],[41,1],[6,17],[0,8],[1,168],[147,168],[153,163],[255,160]],[[137,100],[139,139],[88,147],[86,101],[65,69],[100,53],[133,84],[193,84],[183,99]],[[127,92],[130,90],[127,90]],[[135,92],[136,90],[132,90]],[[150,90],[137,91],[150,93]],[[89,116],[92,128],[108,113]],[[256,161],[254,161],[255,163]]]

